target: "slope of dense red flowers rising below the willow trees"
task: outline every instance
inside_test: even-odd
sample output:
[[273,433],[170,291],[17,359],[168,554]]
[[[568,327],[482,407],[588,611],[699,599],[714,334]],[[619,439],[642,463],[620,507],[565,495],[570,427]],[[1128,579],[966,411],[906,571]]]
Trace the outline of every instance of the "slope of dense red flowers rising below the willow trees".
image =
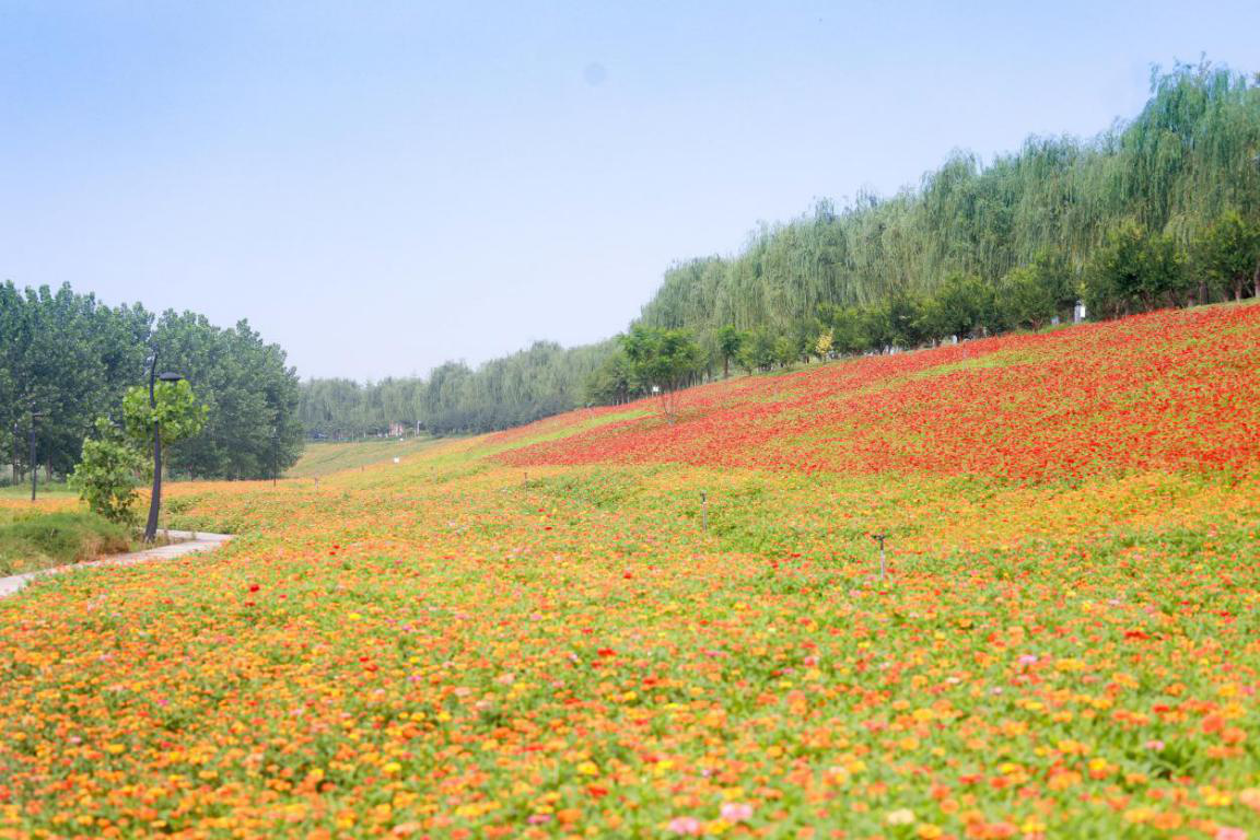
[[[1162,311],[732,379],[592,412],[600,426],[513,451],[517,465],[679,462],[1004,479],[1260,457],[1260,306]],[[624,412],[634,417],[615,419]],[[583,413],[537,428],[583,422]]]

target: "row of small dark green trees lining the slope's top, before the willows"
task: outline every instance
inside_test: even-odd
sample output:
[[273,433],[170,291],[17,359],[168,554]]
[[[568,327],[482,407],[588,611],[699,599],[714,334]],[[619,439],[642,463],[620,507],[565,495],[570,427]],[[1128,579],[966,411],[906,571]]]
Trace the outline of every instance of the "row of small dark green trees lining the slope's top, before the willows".
[[[1228,212],[1187,246],[1169,234],[1125,224],[1108,234],[1081,271],[1067,259],[1042,254],[1007,272],[997,283],[976,275],[951,273],[931,291],[897,291],[856,306],[820,304],[814,317],[776,332],[766,325],[738,330],[724,325],[709,348],[685,354],[673,382],[690,384],[732,364],[752,373],[811,359],[937,345],[1009,330],[1037,330],[1079,320],[1094,311],[1118,317],[1169,306],[1193,306],[1255,296],[1260,286],[1260,218]],[[653,368],[639,363],[645,341],[694,344],[687,329],[636,324],[587,380],[588,399],[621,403],[665,387]],[[645,373],[646,372],[646,373]]]

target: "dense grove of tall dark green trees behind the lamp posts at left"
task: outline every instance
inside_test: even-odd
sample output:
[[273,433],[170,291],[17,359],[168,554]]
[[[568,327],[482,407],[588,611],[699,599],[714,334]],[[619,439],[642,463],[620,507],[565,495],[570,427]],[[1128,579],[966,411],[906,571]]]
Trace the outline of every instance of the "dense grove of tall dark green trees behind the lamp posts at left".
[[[232,329],[193,312],[155,315],[140,305],[107,306],[69,286],[0,285],[0,460],[11,475],[37,462],[67,475],[97,417],[121,418],[122,397],[159,370],[186,378],[205,408],[200,433],[173,446],[173,474],[271,477],[301,453],[299,380],[285,353],[246,321]],[[33,418],[33,414],[35,416]]]

